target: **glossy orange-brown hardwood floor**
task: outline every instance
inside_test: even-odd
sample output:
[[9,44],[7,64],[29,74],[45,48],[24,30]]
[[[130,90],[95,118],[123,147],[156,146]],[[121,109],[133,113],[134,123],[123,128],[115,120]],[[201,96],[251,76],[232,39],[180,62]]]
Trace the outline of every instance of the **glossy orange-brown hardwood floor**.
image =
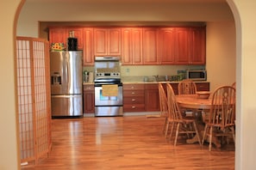
[[35,170],[234,169],[234,144],[177,146],[165,140],[163,118],[98,117],[53,119],[53,148]]

